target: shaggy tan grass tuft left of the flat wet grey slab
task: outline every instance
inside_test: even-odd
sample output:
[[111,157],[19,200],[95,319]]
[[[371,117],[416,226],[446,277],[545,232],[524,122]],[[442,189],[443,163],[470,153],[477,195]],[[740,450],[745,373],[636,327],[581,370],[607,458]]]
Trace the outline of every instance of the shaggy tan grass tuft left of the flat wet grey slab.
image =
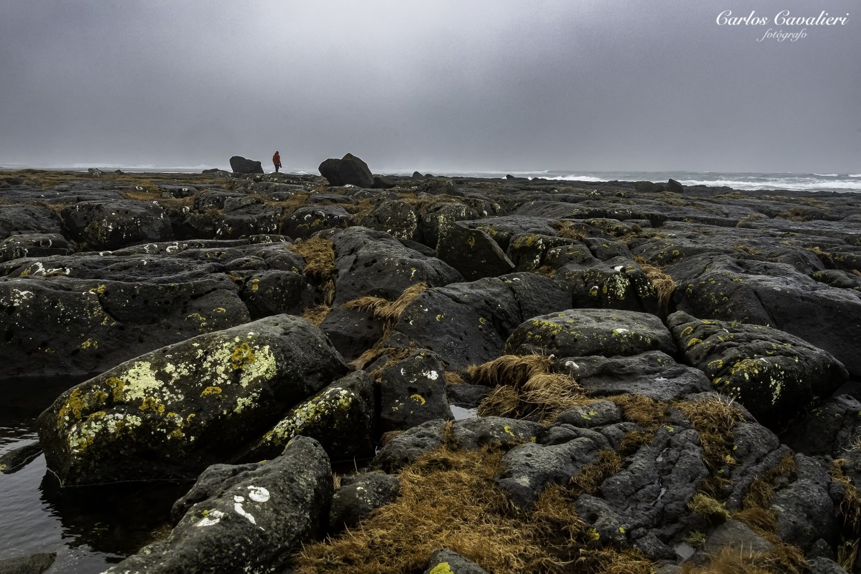
[[469,367],[475,384],[495,385],[481,401],[479,415],[547,422],[565,409],[592,402],[573,377],[548,372],[552,364],[542,355],[503,355]]

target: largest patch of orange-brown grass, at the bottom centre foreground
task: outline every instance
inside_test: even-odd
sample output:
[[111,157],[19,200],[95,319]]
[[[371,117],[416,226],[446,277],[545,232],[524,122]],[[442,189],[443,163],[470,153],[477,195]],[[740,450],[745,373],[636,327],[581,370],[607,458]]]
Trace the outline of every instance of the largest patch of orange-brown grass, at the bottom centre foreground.
[[494,482],[502,452],[425,454],[400,473],[399,498],[359,527],[306,546],[296,574],[419,572],[448,547],[491,574],[647,574],[639,552],[604,547],[574,509],[572,490],[554,485],[531,511],[516,508]]

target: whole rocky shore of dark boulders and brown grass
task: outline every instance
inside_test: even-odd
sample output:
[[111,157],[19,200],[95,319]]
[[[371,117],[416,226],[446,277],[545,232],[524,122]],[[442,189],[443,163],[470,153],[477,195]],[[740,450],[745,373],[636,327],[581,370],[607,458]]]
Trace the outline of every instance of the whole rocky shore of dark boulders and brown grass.
[[196,480],[109,571],[858,571],[861,197],[354,160],[0,172],[49,468]]

